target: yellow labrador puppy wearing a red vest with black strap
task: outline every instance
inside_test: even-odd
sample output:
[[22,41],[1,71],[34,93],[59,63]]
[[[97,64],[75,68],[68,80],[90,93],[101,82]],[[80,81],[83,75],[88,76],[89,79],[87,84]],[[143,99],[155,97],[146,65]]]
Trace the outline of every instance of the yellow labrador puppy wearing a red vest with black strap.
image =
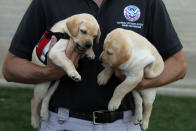
[[[58,39],[57,43],[50,49],[51,36],[55,35]],[[72,38],[76,44],[76,49],[85,54],[88,58],[94,59],[93,40],[99,41],[101,32],[96,19],[90,14],[73,15],[65,20],[56,23],[50,31],[47,31],[41,38],[38,45],[34,48],[32,54],[32,62],[40,66],[45,66],[47,53],[54,64],[61,67],[67,75],[75,81],[80,81],[81,76],[76,71],[72,61],[65,55],[69,38]],[[37,84],[34,88],[34,97],[31,100],[31,124],[34,128],[39,127],[39,116],[37,114],[38,105],[42,101],[41,117],[48,120],[48,104],[59,81],[52,86],[51,82]],[[48,89],[49,88],[49,89]]]

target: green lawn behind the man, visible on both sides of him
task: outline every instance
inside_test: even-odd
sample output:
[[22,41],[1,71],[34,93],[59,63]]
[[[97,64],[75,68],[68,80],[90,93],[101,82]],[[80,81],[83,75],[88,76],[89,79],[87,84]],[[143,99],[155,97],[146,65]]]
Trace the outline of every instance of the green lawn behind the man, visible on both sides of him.
[[[30,126],[32,89],[0,87],[0,131]],[[148,131],[196,131],[196,98],[157,96]]]

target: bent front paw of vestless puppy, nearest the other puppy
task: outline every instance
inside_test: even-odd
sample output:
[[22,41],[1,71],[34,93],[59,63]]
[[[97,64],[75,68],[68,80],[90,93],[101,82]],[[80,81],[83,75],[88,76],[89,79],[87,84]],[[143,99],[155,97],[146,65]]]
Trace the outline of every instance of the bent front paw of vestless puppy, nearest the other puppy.
[[113,74],[113,69],[111,67],[105,67],[97,76],[97,83],[105,85]]

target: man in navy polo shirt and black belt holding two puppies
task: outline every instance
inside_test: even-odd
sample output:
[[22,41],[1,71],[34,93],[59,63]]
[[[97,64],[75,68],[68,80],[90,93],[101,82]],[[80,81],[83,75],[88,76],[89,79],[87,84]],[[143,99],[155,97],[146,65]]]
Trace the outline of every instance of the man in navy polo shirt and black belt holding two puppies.
[[[56,22],[79,13],[94,15],[102,32],[100,43],[94,44],[93,47],[96,55],[93,61],[86,58],[78,61],[79,54],[73,50],[72,40],[69,42],[66,55],[78,65],[77,70],[82,76],[82,81],[74,82],[64,76],[65,73],[49,59],[46,67],[31,63],[33,48],[45,30],[50,29]],[[41,122],[41,131],[141,130],[139,125],[132,123],[134,104],[131,94],[124,98],[118,111],[100,111],[107,110],[115,87],[123,79],[123,73],[116,71],[107,85],[99,87],[97,84],[97,74],[103,69],[98,60],[103,41],[107,33],[119,27],[146,37],[165,60],[163,73],[155,79],[143,79],[137,89],[162,86],[184,77],[186,62],[182,45],[162,0],[32,1],[12,40],[3,74],[7,81],[22,83],[61,79],[50,101],[50,119],[48,122]],[[52,41],[54,44],[54,37]]]

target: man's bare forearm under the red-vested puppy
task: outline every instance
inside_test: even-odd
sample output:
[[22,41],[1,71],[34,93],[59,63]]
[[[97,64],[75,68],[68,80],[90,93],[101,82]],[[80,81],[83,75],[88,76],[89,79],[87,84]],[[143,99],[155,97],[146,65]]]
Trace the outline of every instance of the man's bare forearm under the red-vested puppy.
[[56,77],[55,74],[54,76],[48,75],[49,71],[47,68],[35,65],[28,60],[18,58],[11,53],[8,53],[2,72],[5,79],[9,82],[28,84],[50,81]]

